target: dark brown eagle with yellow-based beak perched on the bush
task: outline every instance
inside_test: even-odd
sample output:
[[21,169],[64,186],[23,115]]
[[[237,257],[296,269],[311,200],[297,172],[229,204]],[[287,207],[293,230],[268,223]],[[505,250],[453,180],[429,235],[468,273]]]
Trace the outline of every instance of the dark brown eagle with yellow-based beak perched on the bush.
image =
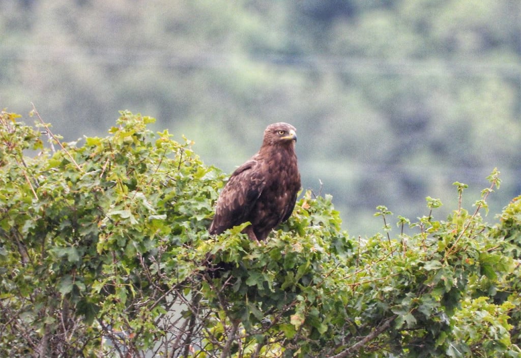
[[210,234],[250,222],[243,233],[263,241],[271,229],[288,220],[301,188],[295,143],[291,124],[266,127],[261,149],[230,175],[222,189]]

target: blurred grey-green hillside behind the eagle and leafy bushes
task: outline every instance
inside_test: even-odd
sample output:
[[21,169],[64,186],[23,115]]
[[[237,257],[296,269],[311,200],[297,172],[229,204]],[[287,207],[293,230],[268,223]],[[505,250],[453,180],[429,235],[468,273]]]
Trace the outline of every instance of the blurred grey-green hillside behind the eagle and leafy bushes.
[[65,140],[155,117],[227,173],[289,122],[352,236],[426,196],[445,219],[455,181],[470,210],[498,167],[493,222],[521,194],[521,2],[2,0],[0,108],[31,123],[31,102]]

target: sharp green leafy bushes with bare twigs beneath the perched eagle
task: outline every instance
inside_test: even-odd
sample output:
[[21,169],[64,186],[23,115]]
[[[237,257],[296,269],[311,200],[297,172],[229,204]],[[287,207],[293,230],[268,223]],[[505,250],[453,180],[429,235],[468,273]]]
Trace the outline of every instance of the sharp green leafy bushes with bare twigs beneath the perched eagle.
[[152,118],[79,145],[33,114],[0,116],[2,356],[521,356],[521,200],[498,225],[480,214],[497,171],[473,211],[438,221],[428,197],[391,235],[378,207],[368,238],[307,191],[257,244],[209,237],[225,177]]

